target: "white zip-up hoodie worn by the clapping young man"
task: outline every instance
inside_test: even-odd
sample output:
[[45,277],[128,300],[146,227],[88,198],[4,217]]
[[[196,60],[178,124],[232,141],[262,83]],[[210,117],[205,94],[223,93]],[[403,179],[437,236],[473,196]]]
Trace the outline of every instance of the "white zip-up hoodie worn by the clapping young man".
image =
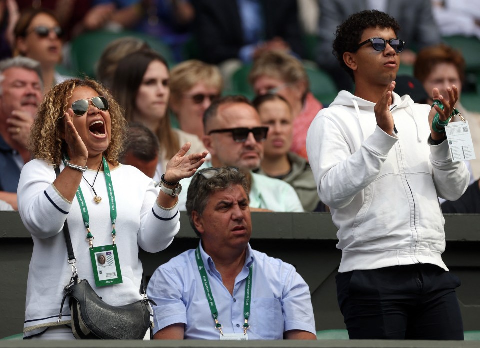
[[448,270],[438,196],[458,199],[468,170],[451,161],[447,141],[428,144],[430,106],[393,93],[393,136],[377,126],[374,106],[341,91],[308,130],[318,194],[339,229],[339,272],[414,263]]

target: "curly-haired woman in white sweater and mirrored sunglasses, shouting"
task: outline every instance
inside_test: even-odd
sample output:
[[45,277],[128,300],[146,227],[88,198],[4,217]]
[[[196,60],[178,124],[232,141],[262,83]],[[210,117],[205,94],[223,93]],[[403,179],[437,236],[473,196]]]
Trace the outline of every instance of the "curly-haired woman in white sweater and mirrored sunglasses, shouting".
[[[18,185],[18,210],[34,242],[25,337],[74,338],[64,325],[70,319],[66,304],[57,323],[71,277],[65,220],[78,274],[115,306],[141,299],[138,248],[158,252],[178,232],[177,183],[193,175],[207,152],[187,156],[190,145],[183,145],[168,162],[158,192],[151,178],[118,163],[126,130],[117,102],[93,80],[58,84],[40,105],[30,136],[35,159],[24,167]],[[100,252],[106,252],[105,264],[97,263]]]

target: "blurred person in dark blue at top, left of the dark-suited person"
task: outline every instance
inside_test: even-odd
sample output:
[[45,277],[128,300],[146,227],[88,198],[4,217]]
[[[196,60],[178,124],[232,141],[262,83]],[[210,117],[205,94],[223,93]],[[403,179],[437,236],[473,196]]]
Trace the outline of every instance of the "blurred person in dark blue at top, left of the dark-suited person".
[[184,60],[183,46],[191,37],[195,17],[190,0],[92,0],[92,3],[116,7],[108,22],[110,28],[155,36],[172,49],[177,62]]

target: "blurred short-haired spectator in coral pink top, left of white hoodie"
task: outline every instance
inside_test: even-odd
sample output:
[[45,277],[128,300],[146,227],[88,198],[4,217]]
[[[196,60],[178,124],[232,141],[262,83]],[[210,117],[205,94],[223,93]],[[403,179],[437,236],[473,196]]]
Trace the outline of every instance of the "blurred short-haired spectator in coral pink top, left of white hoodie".
[[248,81],[255,94],[274,93],[288,101],[293,115],[291,151],[308,160],[306,133],[323,105],[310,92],[301,61],[285,52],[265,52],[253,62]]

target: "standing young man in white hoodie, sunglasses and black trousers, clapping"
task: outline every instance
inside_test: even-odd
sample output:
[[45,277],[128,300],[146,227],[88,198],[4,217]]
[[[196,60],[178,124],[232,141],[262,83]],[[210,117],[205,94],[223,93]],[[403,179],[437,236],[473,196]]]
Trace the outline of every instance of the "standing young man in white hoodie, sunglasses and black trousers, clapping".
[[460,281],[441,259],[437,197],[458,199],[469,173],[431,126],[435,113],[448,118],[458,90],[433,90],[443,110],[396,94],[398,31],[376,10],[337,28],[333,51],[355,92],[340,91],[308,131],[318,194],[338,227],[338,303],[350,339],[462,340]]

